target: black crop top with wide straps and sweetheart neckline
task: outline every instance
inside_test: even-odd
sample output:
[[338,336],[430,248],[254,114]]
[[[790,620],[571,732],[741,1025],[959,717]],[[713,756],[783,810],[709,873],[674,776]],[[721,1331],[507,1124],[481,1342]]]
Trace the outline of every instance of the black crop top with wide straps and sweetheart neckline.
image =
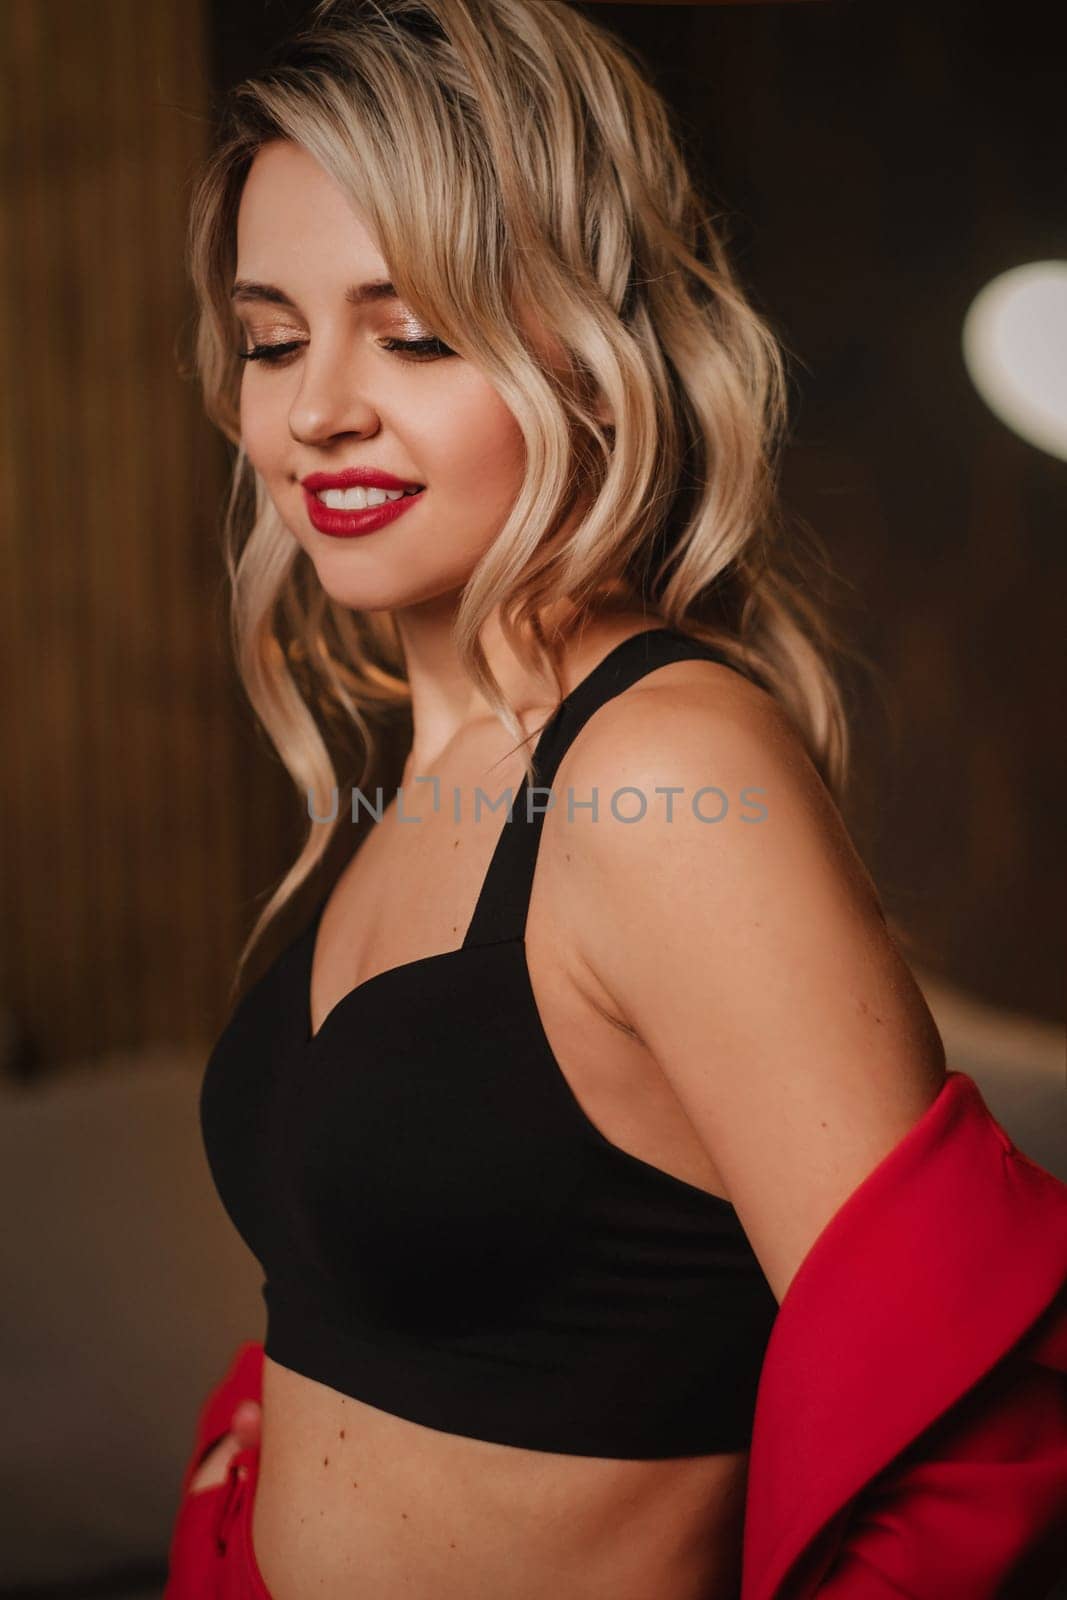
[[[725,661],[669,629],[617,645],[541,730],[537,784],[597,707],[693,658]],[[526,787],[459,949],[378,973],[312,1037],[323,901],[210,1056],[203,1139],[266,1274],[264,1350],[450,1434],[745,1450],[777,1302],[734,1208],[613,1144],[557,1064],[523,941]]]

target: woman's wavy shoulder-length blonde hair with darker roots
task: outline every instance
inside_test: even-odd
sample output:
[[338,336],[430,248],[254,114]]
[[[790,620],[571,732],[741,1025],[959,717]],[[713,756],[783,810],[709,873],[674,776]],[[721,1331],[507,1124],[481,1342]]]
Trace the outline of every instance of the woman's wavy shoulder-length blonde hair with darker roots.
[[[392,614],[323,592],[240,443],[237,211],[274,139],[306,149],[352,198],[400,298],[522,427],[525,483],[464,586],[454,640],[526,770],[485,621],[499,608],[520,659],[547,666],[558,690],[566,635],[545,614],[563,602],[576,627],[624,595],[776,696],[840,797],[848,725],[830,630],[784,571],[779,341],[739,288],[640,58],[565,0],[320,0],[230,91],[195,184],[194,365],[208,416],[237,446],[224,517],[232,643],[301,795],[322,813],[339,787],[320,718],[355,736],[362,787],[376,733],[410,693]],[[561,363],[533,347],[520,307],[553,331]],[[341,818],[338,806],[333,827],[309,826],[238,971]]]

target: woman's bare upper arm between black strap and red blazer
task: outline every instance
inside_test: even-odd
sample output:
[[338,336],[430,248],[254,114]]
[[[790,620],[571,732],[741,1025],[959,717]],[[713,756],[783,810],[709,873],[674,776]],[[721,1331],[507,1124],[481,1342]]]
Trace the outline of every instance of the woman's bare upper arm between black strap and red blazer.
[[[582,955],[712,1157],[781,1302],[819,1232],[942,1086],[944,1046],[870,877],[761,691],[619,696],[574,746]],[[609,797],[641,792],[640,821]],[[673,818],[657,787],[673,786]],[[699,789],[723,790],[720,822]],[[745,802],[742,790],[760,790]],[[705,818],[721,800],[697,800]],[[744,821],[761,806],[761,821]],[[632,795],[619,814],[640,811]]]

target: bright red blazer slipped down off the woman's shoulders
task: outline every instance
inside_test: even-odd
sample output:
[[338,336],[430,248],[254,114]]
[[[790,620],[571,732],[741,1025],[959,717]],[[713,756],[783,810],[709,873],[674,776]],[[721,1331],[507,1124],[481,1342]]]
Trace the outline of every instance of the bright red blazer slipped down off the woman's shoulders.
[[[1045,1600],[1067,1555],[1065,1285],[1067,1184],[949,1072],[779,1306],[741,1600]],[[182,1490],[261,1371],[245,1341]]]

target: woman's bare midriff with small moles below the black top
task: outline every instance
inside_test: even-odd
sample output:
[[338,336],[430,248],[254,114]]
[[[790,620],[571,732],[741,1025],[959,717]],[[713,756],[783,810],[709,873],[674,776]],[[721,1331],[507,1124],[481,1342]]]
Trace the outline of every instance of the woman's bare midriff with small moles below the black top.
[[747,1461],[466,1438],[266,1360],[253,1547],[274,1600],[737,1600]]

